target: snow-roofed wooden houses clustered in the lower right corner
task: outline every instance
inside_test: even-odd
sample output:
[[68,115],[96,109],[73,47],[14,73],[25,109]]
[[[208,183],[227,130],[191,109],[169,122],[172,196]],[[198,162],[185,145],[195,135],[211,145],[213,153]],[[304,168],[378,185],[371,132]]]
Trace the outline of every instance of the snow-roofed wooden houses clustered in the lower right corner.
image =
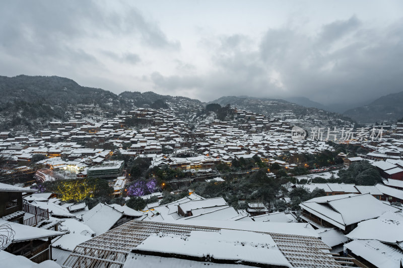
[[401,206],[371,194],[343,194],[314,198],[300,207],[300,218],[315,228],[330,251],[343,250],[359,267],[401,266]]

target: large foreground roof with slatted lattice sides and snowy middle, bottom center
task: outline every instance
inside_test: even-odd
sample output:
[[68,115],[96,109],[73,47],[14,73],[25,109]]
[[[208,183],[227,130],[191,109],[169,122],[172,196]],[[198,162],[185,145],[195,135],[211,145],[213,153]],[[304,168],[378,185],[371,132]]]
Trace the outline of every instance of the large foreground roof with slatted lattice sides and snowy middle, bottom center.
[[214,266],[216,262],[268,267],[344,267],[326,253],[326,249],[330,248],[317,238],[313,229],[307,229],[306,224],[187,223],[129,221],[77,245],[63,267],[74,267],[77,261],[86,263],[94,258],[102,266],[117,264],[130,267],[133,259],[129,258],[126,265],[126,258],[132,251],[141,251],[147,256],[169,255],[171,260],[177,261],[184,258],[197,267],[198,263]]

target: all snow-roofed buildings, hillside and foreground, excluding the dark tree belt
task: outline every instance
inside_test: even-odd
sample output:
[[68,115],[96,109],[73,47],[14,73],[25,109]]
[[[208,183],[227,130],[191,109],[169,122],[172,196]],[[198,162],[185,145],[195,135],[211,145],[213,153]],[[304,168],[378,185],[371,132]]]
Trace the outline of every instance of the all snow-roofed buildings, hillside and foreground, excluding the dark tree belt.
[[[179,108],[140,108],[105,120],[91,120],[77,112],[75,120],[50,122],[49,129],[36,135],[2,132],[0,153],[8,159],[4,169],[13,177],[33,176],[38,182],[113,178],[111,187],[119,194],[127,172],[124,161],[111,159],[116,154],[148,158],[152,166],[196,176],[214,174],[218,164],[231,165],[233,160],[254,156],[292,168],[296,165],[276,158],[334,150],[324,141],[293,139],[290,122],[297,116],[292,111],[278,120],[231,108],[234,120],[219,121],[214,116],[196,118],[198,107]],[[183,114],[186,109],[190,116]],[[318,115],[317,120],[322,119]],[[314,116],[309,120],[319,122]],[[343,156],[346,165],[370,160],[383,183],[293,185],[326,193],[302,202],[300,213],[268,213],[262,203],[236,210],[221,197],[206,199],[192,191],[168,204],[149,203],[141,211],[103,203],[89,208],[84,202],[63,203],[52,193],[0,183],[0,234],[4,234],[0,259],[53,267],[163,263],[173,267],[400,268],[402,129],[400,124],[382,139],[351,141],[370,152]],[[161,199],[162,194],[143,199],[151,197]],[[286,196],[283,200],[290,202]]]

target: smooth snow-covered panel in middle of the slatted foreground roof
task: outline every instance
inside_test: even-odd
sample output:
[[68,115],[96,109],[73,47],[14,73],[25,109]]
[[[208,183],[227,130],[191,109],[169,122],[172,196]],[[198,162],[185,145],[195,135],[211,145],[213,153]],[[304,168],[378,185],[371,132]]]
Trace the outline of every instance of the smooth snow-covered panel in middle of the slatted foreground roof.
[[292,267],[269,234],[239,230],[191,231],[190,235],[151,234],[134,250],[143,254],[162,252],[188,258],[210,254],[216,260]]

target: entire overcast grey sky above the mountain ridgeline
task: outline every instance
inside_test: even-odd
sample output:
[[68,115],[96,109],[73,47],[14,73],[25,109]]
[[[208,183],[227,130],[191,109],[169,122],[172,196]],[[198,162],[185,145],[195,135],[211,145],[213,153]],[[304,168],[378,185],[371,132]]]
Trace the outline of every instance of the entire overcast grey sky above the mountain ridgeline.
[[0,75],[201,101],[403,91],[401,0],[0,0],[0,25]]

